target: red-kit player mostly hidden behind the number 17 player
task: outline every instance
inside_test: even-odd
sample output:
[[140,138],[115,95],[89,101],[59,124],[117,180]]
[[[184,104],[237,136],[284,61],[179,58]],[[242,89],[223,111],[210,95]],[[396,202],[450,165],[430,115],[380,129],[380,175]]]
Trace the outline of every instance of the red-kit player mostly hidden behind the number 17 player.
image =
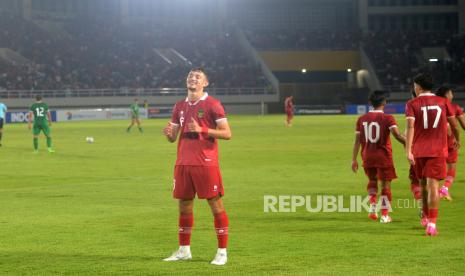
[[[462,128],[465,130],[465,119],[463,118],[463,110],[458,104],[452,103],[454,94],[452,90],[450,89],[450,87],[441,86],[436,91],[436,96],[446,98],[447,100],[449,100],[449,102],[451,102],[455,118],[458,120]],[[456,163],[458,159],[458,150],[454,146],[455,137],[454,135],[452,135],[451,131],[447,133],[447,145],[448,145],[448,149],[447,149],[448,155],[446,159],[447,177],[446,177],[446,180],[444,181],[444,185],[441,187],[441,189],[439,189],[439,196],[446,200],[452,200],[452,197],[450,196],[450,193],[449,193],[449,189],[452,186],[452,183],[454,183]]]

